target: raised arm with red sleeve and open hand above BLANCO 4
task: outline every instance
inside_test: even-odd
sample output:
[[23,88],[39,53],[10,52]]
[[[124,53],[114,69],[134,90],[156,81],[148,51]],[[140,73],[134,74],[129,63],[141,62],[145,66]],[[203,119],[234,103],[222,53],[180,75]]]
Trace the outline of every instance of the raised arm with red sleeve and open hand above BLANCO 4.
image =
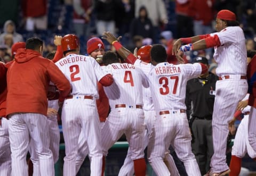
[[103,32],[102,39],[108,41],[109,44],[113,45],[117,51],[117,53],[126,60],[127,63],[134,64],[137,58],[125,47],[123,47],[119,42],[118,39],[110,32]]

